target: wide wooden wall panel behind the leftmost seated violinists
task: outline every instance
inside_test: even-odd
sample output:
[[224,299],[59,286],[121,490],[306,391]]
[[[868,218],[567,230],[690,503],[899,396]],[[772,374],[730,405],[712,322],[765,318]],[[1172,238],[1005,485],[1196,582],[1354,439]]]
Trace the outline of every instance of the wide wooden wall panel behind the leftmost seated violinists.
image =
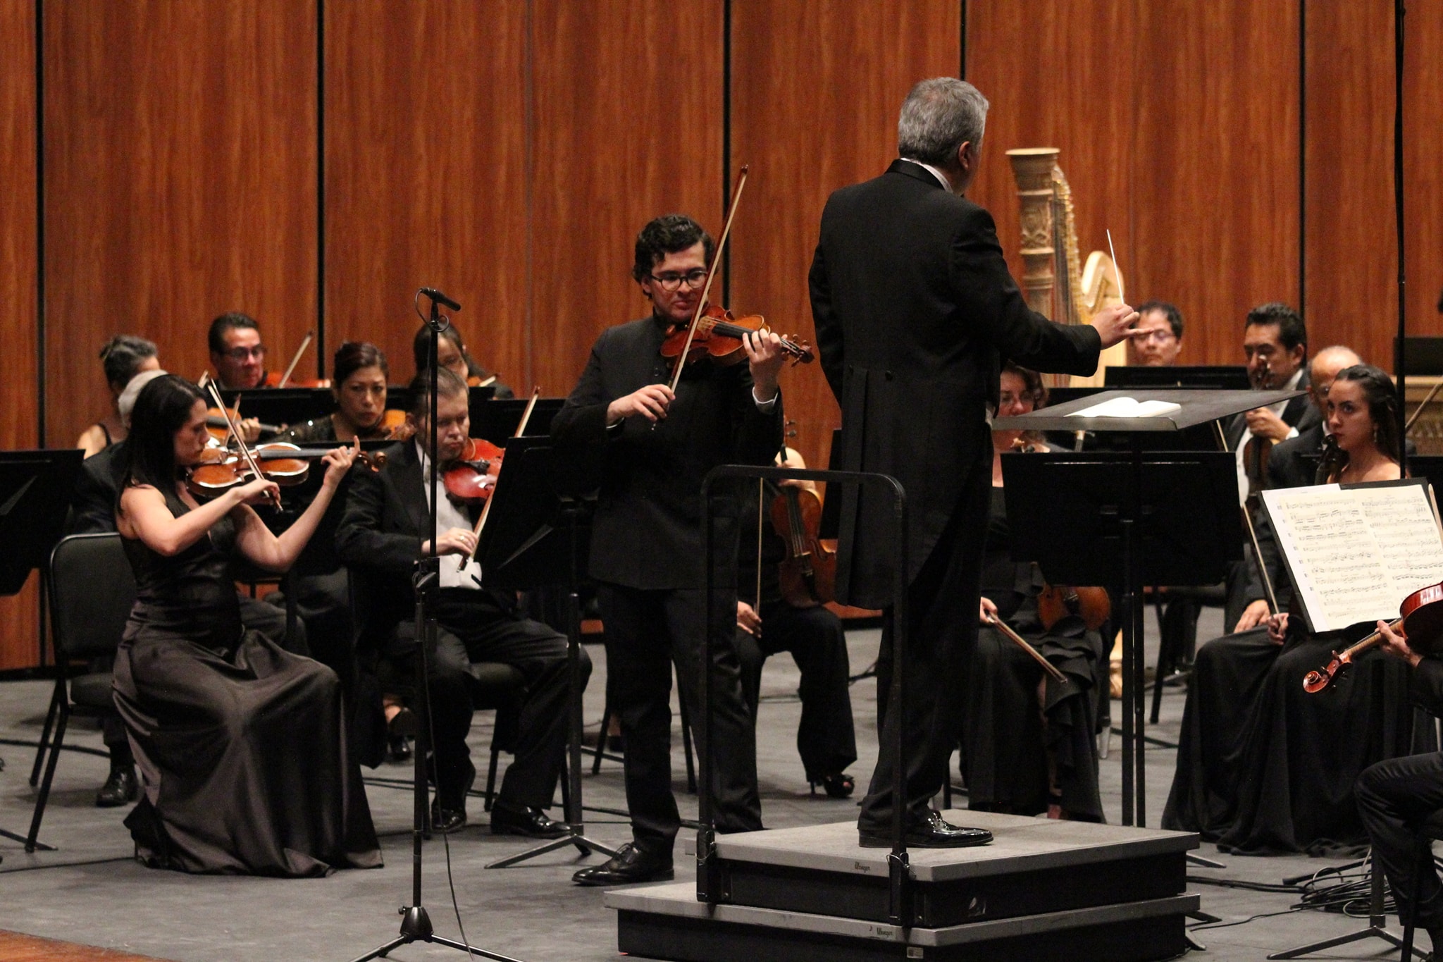
[[316,323],[315,0],[68,0],[45,16],[48,441],[130,332],[188,378],[227,310],[284,365]]

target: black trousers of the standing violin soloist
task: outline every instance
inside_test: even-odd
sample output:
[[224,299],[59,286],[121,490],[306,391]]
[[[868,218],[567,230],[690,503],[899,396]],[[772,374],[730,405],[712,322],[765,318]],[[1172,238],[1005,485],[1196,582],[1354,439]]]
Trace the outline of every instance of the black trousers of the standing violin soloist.
[[[701,730],[700,700],[706,591],[642,590],[600,583],[606,626],[606,694],[626,738],[626,806],[639,848],[665,854],[681,828],[671,793],[671,666],[691,724]],[[762,828],[756,792],[756,731],[742,700],[733,632],[736,591],[713,593],[710,743],[714,754],[716,826],[722,832]]]

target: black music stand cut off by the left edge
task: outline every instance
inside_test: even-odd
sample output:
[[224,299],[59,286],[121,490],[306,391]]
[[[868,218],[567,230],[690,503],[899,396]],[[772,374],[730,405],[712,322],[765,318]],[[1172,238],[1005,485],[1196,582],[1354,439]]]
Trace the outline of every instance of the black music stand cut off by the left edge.
[[[45,606],[49,594],[46,562],[65,528],[65,512],[81,470],[79,449],[0,451],[0,594],[19,594],[40,571],[40,661],[45,661]],[[0,835],[27,842],[0,828]],[[36,848],[53,848],[36,842]]]

